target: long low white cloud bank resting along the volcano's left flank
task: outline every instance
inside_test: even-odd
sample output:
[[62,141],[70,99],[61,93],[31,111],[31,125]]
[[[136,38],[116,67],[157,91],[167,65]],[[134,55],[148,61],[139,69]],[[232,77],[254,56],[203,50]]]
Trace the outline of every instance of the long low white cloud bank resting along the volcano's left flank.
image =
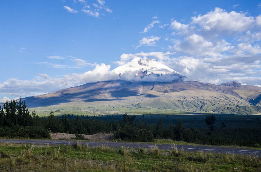
[[60,78],[46,77],[43,74],[31,80],[11,78],[0,83],[0,93],[14,97],[35,96],[84,83],[117,79],[118,75],[110,71],[110,65],[102,63],[97,64],[93,70],[81,74],[64,75]]

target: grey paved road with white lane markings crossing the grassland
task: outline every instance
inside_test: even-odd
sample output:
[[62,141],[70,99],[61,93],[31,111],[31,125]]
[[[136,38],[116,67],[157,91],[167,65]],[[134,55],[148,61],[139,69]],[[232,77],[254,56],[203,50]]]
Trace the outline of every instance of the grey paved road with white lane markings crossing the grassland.
[[[76,141],[72,140],[20,140],[20,139],[0,139],[3,143],[26,143],[26,144],[50,144],[50,145],[72,145]],[[102,144],[108,147],[131,147],[131,148],[151,148],[157,145],[159,149],[172,149],[170,144],[152,144],[152,143],[129,143],[129,142],[106,142],[106,141],[79,141],[80,143],[88,144],[89,146],[100,146]],[[234,154],[253,155],[257,154],[261,157],[261,150],[258,149],[244,149],[233,147],[219,147],[219,146],[194,146],[194,145],[177,145],[178,148],[183,147],[185,151],[197,152],[200,149],[205,152],[226,153],[231,152]]]

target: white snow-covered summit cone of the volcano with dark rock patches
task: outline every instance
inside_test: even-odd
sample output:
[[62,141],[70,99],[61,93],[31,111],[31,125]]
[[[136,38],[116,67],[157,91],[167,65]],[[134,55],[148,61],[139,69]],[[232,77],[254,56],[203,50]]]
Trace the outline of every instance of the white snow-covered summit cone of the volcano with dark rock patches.
[[127,78],[127,80],[140,80],[142,78],[144,81],[152,81],[155,80],[155,77],[158,77],[157,79],[162,81],[173,81],[185,77],[155,59],[138,57],[115,68],[113,72],[119,74],[120,77]]

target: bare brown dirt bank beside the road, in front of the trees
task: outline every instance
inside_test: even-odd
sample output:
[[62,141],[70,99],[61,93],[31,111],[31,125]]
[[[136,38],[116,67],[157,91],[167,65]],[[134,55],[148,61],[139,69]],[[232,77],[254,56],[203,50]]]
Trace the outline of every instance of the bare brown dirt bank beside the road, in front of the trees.
[[[93,135],[85,135],[85,134],[79,134],[82,137],[84,137],[84,139],[88,139],[88,140],[112,140],[113,139],[113,134],[105,134],[105,133],[97,133],[97,134],[93,134]],[[66,133],[52,133],[51,134],[52,139],[74,139],[76,138],[75,134],[66,134]]]

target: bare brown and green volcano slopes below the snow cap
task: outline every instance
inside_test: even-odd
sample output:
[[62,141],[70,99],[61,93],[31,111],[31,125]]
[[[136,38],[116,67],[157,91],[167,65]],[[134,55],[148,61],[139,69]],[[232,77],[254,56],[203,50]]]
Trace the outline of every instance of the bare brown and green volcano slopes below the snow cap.
[[257,114],[260,106],[247,100],[257,98],[261,88],[251,85],[229,87],[194,81],[87,83],[54,93],[24,98],[29,107],[75,106],[81,110],[97,106],[171,109],[189,112]]

